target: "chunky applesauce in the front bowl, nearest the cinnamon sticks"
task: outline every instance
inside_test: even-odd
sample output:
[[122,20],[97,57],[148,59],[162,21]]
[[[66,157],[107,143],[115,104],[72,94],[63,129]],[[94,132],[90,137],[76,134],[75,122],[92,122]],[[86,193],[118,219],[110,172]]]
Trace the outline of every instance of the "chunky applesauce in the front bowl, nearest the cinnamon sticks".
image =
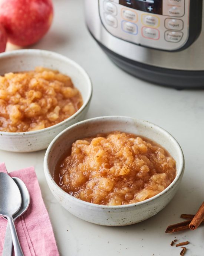
[[75,141],[59,160],[54,179],[83,201],[125,205],[162,192],[175,178],[175,165],[157,143],[114,131]]

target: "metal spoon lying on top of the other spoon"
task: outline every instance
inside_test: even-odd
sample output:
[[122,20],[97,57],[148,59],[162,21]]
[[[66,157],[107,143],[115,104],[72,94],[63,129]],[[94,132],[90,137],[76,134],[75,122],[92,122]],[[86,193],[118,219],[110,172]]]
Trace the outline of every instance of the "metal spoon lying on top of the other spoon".
[[14,252],[16,256],[23,256],[13,215],[20,209],[21,195],[18,186],[6,173],[0,173],[0,216],[6,217],[10,226],[13,239]]

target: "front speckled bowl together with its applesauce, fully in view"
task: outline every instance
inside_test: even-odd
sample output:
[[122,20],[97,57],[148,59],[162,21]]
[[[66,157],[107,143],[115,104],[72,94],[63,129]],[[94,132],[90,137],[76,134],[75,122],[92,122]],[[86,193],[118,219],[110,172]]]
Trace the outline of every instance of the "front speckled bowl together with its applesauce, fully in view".
[[101,225],[128,225],[168,204],[184,157],[157,125],[107,116],[61,132],[47,149],[44,170],[53,195],[72,214]]

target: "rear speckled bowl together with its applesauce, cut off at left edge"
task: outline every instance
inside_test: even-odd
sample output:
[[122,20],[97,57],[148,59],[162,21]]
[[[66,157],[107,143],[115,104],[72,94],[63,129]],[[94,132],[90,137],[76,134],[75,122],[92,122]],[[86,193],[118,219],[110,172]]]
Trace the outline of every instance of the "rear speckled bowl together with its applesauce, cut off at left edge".
[[22,49],[0,54],[0,149],[47,148],[88,111],[92,83],[77,63],[55,52]]

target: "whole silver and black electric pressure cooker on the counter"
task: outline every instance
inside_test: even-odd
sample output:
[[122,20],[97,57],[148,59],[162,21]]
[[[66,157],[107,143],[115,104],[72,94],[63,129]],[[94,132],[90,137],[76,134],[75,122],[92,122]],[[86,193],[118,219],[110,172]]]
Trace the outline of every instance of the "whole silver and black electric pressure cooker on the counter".
[[126,72],[165,86],[204,87],[203,0],[85,0],[93,38]]

